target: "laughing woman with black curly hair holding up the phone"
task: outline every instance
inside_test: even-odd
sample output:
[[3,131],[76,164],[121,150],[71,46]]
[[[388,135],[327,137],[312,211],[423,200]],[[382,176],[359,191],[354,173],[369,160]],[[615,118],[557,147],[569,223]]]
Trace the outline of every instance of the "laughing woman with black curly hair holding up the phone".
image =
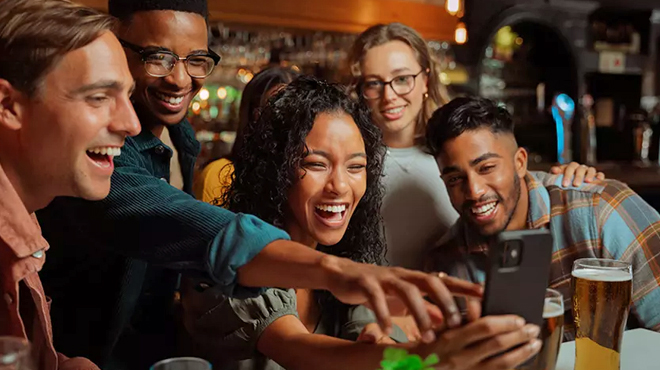
[[[281,227],[310,248],[382,261],[384,148],[360,102],[336,85],[299,78],[248,122],[241,144],[225,207]],[[184,285],[182,302],[197,354],[221,369],[375,369],[386,345],[438,353],[455,370],[489,369],[513,367],[539,348],[538,328],[514,316],[477,319],[437,341],[395,344],[406,341],[400,330],[385,336],[367,308],[322,291],[269,289],[241,300]]]

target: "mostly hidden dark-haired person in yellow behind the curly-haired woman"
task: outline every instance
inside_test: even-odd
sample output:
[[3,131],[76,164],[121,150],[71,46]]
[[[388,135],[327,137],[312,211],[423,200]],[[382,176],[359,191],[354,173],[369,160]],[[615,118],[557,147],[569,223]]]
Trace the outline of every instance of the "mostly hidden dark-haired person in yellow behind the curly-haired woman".
[[236,140],[227,157],[209,163],[200,176],[195,179],[193,192],[201,201],[215,204],[222,198],[224,189],[231,181],[233,172],[232,161],[240,149],[243,130],[248,122],[255,121],[259,116],[259,109],[266,103],[279,88],[293,81],[299,73],[287,67],[270,67],[254,75],[245,85],[238,112],[238,128]]

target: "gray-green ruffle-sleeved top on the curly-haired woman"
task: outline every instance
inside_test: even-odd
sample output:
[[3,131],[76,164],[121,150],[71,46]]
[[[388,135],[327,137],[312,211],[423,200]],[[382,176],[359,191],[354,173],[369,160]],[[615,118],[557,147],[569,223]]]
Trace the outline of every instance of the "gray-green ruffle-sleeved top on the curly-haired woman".
[[[213,288],[197,292],[184,288],[184,321],[192,337],[195,355],[213,363],[214,370],[281,370],[275,361],[257,351],[264,329],[285,315],[298,316],[293,289],[268,289],[257,298],[227,298]],[[334,320],[334,322],[333,322]],[[363,306],[348,309],[345,319],[333,319],[322,312],[315,334],[355,340],[366,324],[376,322],[374,313]],[[395,327],[392,339],[406,342],[406,335]]]

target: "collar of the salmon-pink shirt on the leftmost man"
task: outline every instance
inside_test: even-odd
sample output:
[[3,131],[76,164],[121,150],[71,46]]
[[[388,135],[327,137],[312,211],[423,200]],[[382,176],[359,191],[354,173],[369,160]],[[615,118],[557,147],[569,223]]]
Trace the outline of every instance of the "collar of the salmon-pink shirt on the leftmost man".
[[48,249],[34,214],[29,214],[16,189],[0,166],[0,239],[14,252],[25,258],[39,250]]

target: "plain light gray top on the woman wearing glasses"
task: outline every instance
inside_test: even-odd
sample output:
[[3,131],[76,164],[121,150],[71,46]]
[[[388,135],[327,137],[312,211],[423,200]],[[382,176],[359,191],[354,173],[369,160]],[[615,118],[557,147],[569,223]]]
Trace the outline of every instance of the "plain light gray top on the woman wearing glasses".
[[426,249],[458,219],[432,155],[419,147],[388,148],[382,215],[387,260],[421,270]]

